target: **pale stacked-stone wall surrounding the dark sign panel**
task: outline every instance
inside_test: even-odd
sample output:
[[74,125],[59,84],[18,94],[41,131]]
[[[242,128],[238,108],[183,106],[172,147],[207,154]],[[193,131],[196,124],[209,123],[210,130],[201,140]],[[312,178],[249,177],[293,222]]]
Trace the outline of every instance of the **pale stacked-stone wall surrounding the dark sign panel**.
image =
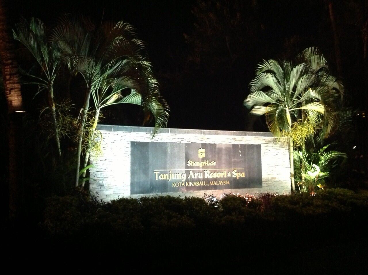
[[[290,164],[286,143],[271,133],[212,131],[163,128],[152,138],[150,127],[100,125],[102,153],[91,155],[90,191],[109,201],[122,197],[139,197],[130,193],[130,142],[195,142],[215,144],[261,144],[262,188],[202,190],[162,195],[197,196],[204,193],[219,196],[223,193],[256,194],[290,192]],[[152,194],[150,194],[152,195]]]

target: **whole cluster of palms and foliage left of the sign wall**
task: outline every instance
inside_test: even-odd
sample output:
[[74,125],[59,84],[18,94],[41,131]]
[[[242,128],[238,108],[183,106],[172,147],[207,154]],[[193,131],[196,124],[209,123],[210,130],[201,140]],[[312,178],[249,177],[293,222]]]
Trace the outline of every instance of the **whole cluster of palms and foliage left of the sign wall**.
[[[38,85],[36,95],[47,92],[48,106],[40,111],[39,122],[47,141],[55,139],[60,163],[64,153],[61,147],[65,145],[63,149],[70,150],[70,141],[77,141],[75,185],[82,150],[86,157],[84,166],[90,152],[100,152],[102,136],[96,126],[102,108],[122,103],[139,105],[145,114],[144,123],[155,120],[153,135],[166,126],[169,106],[160,96],[144,42],[137,38],[130,24],[94,24],[88,17],[69,14],[61,16],[50,31],[37,18],[22,18],[15,25],[13,36],[36,64],[30,70],[22,70],[24,82]],[[82,85],[73,85],[71,90],[74,81]],[[54,89],[58,99],[54,98]],[[71,91],[86,91],[77,119],[72,116],[71,101],[62,99],[63,90],[68,90],[68,98]],[[92,111],[90,96],[95,105]],[[85,180],[84,177],[82,185]]]

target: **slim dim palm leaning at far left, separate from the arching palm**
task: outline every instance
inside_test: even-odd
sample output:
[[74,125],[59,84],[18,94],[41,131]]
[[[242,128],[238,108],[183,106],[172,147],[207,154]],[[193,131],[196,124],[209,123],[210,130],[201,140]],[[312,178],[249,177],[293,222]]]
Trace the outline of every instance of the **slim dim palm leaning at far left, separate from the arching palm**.
[[45,25],[36,18],[31,18],[29,23],[22,19],[13,30],[13,36],[14,39],[20,41],[29,50],[42,70],[42,76],[40,77],[30,73],[26,73],[26,75],[33,79],[33,82],[30,83],[38,84],[39,92],[47,91],[57,152],[61,156],[53,88],[56,74],[60,68],[59,58],[53,45],[50,45],[48,41],[49,38],[46,35]]

